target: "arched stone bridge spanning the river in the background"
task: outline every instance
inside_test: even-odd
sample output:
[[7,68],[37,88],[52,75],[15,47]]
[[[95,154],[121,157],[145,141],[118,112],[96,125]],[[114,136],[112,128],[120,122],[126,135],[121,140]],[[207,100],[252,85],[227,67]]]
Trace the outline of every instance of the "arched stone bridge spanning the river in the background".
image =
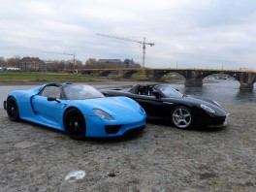
[[233,77],[240,82],[240,89],[252,89],[256,81],[256,71],[252,70],[214,70],[214,69],[80,69],[81,74],[108,77],[112,73],[119,74],[123,78],[129,79],[135,73],[144,73],[148,80],[161,80],[170,73],[177,73],[184,77],[185,85],[202,85],[203,80],[213,74],[225,74]]

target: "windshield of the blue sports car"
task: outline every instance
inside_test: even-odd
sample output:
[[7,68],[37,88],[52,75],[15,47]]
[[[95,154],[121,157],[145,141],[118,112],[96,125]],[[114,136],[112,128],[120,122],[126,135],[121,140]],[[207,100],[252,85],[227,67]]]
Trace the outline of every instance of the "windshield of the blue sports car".
[[90,85],[68,85],[64,86],[64,94],[68,100],[82,100],[105,97],[100,91]]

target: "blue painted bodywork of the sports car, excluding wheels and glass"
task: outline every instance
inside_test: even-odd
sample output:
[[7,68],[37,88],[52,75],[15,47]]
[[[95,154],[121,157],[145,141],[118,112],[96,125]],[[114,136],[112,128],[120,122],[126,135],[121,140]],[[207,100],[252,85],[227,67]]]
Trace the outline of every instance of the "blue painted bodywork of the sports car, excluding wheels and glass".
[[[86,123],[86,137],[108,138],[124,135],[127,131],[144,128],[146,114],[142,107],[127,97],[102,97],[84,100],[48,101],[48,97],[41,96],[40,91],[47,86],[44,84],[29,90],[15,90],[9,97],[16,99],[19,118],[65,131],[63,118],[65,112],[71,108],[78,109],[84,116]],[[106,120],[94,109],[107,112],[112,120]],[[106,126],[120,126],[117,133],[108,134]]]

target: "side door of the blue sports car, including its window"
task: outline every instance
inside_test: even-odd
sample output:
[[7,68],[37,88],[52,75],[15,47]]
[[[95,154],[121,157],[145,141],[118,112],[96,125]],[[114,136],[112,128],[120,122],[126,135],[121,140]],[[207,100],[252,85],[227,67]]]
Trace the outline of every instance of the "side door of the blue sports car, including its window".
[[60,102],[48,101],[48,98],[60,99],[59,87],[47,86],[40,94],[35,95],[32,98],[33,110],[39,118],[55,124],[60,118]]

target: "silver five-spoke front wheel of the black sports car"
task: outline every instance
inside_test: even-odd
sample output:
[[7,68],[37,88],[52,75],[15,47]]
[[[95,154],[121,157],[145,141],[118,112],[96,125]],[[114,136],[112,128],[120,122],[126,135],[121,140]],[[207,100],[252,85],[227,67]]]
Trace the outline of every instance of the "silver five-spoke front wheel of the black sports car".
[[177,106],[172,112],[172,122],[178,129],[190,129],[194,123],[193,113],[184,106]]

